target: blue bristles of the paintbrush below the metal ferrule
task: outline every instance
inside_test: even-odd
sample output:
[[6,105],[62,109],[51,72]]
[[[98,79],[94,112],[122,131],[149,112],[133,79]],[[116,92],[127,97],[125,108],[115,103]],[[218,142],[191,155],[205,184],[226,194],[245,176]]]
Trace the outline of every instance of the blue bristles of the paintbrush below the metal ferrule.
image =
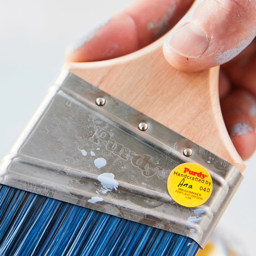
[[0,185],[0,255],[194,256],[192,239]]

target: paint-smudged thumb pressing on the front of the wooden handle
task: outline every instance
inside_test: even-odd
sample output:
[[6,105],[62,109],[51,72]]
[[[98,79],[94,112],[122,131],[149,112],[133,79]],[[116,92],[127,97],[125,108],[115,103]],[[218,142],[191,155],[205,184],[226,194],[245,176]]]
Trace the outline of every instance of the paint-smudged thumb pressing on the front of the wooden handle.
[[163,45],[177,69],[199,71],[238,55],[256,35],[256,0],[202,0],[180,20]]

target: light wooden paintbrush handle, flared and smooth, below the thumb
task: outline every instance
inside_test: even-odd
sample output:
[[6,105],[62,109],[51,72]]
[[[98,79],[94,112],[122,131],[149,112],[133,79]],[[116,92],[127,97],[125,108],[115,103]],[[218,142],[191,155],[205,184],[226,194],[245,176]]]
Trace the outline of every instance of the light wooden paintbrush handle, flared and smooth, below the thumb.
[[188,73],[162,53],[163,38],[124,57],[65,63],[66,69],[236,166],[245,165],[226,130],[218,96],[219,67]]

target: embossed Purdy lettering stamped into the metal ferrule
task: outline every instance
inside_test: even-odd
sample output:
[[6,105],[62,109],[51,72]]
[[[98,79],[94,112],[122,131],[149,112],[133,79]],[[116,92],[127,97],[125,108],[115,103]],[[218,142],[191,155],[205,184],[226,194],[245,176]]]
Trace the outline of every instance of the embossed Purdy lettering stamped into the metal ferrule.
[[95,143],[99,143],[100,141],[104,144],[106,143],[106,150],[112,152],[123,160],[130,159],[133,166],[136,166],[142,170],[142,175],[146,177],[152,177],[157,174],[159,179],[165,178],[164,169],[159,165],[151,162],[151,156],[144,154],[142,156],[138,155],[129,148],[124,147],[124,145],[117,143],[115,140],[111,139],[110,133],[108,131],[97,127],[96,132],[94,133],[93,137],[90,138],[90,140]]

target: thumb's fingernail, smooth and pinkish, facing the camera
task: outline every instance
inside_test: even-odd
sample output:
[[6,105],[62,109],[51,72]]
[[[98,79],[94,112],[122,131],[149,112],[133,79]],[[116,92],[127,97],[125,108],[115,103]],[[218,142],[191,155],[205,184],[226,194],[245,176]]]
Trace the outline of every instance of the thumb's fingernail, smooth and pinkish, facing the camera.
[[198,58],[209,46],[209,37],[199,26],[189,23],[166,38],[168,47],[187,58]]

